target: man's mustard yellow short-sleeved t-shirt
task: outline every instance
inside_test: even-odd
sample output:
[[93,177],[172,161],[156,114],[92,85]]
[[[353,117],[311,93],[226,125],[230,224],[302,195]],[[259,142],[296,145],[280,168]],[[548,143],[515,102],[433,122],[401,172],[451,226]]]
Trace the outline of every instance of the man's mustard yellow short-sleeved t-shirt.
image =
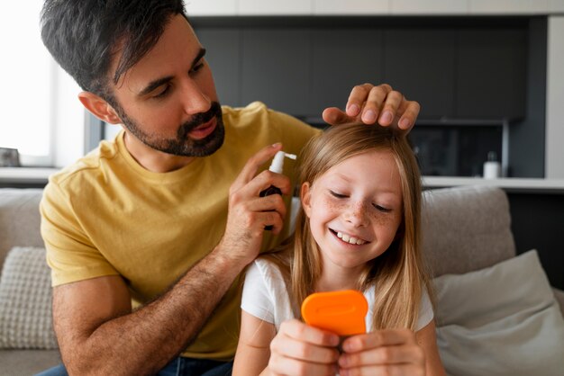
[[[141,167],[125,148],[122,131],[52,175],[41,201],[41,235],[52,284],[121,275],[133,306],[154,299],[218,244],[229,187],[247,160],[275,142],[298,154],[318,132],[262,103],[223,107],[223,122],[222,148],[176,171],[159,174]],[[294,165],[287,159],[284,169],[292,184]],[[286,236],[266,231],[263,250]],[[184,356],[232,358],[240,292],[239,281],[233,282]]]

